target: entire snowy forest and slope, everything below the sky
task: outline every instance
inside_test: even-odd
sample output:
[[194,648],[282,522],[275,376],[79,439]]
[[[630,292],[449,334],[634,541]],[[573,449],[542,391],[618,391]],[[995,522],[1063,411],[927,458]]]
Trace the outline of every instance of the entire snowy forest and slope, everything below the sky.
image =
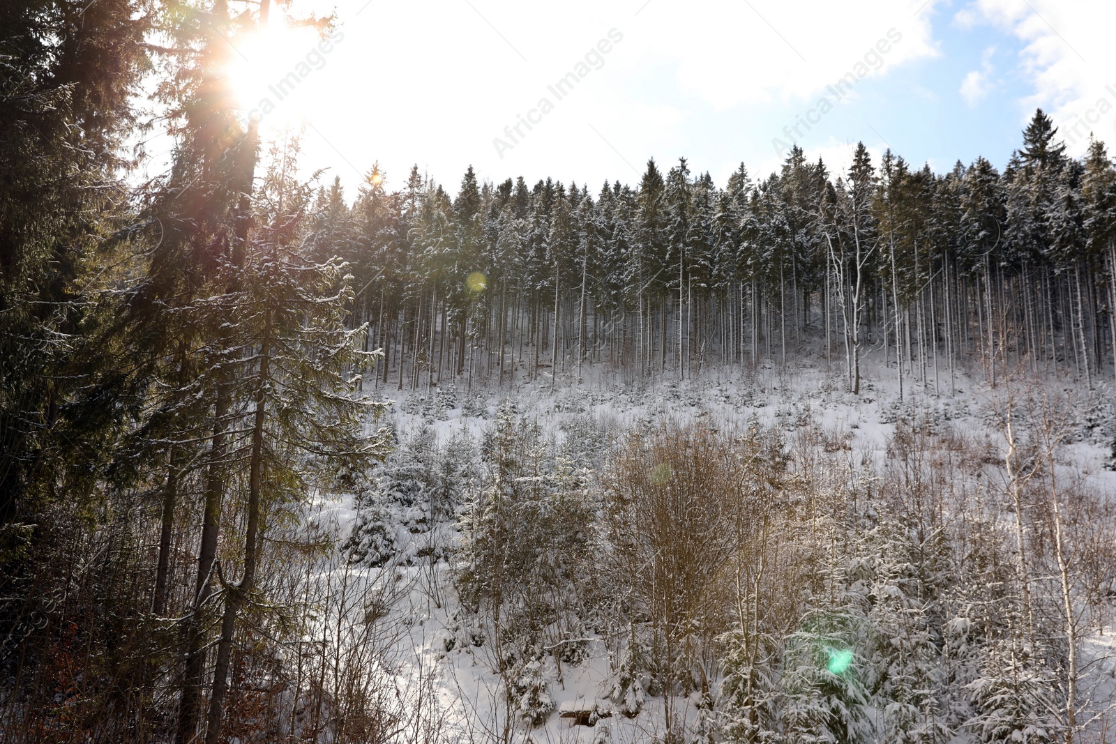
[[1116,741],[1103,142],[347,194],[242,4],[0,4],[2,741]]

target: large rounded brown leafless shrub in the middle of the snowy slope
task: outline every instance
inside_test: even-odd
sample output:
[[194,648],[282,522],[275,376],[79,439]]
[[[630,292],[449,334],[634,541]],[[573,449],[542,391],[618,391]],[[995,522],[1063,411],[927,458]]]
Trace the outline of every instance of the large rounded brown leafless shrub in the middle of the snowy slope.
[[[731,622],[737,518],[747,465],[730,436],[666,422],[633,434],[605,475],[609,572],[629,619],[631,666],[663,693],[709,694],[715,638]],[[626,694],[627,690],[616,690]]]

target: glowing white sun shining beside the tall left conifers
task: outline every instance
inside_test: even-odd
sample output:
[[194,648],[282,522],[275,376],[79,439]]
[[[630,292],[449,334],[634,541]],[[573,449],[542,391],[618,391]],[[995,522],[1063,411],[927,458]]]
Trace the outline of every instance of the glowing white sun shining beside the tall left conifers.
[[238,107],[249,118],[287,126],[314,113],[312,78],[326,66],[329,39],[314,29],[273,19],[263,30],[235,40],[229,83]]

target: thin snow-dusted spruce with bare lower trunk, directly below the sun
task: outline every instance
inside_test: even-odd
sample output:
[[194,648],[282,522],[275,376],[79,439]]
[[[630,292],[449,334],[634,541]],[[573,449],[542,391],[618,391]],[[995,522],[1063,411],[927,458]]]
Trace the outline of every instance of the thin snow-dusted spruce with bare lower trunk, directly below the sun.
[[[286,161],[286,158],[285,158]],[[363,434],[366,416],[382,404],[357,397],[355,384],[369,360],[362,350],[366,327],[346,329],[355,290],[339,259],[319,264],[309,247],[295,241],[309,194],[283,162],[264,180],[258,200],[264,209],[260,229],[242,264],[223,283],[235,289],[202,301],[224,317],[234,336],[223,339],[241,350],[229,359],[230,409],[241,421],[243,439],[231,450],[243,483],[233,503],[243,504],[241,576],[217,566],[224,599],[205,741],[221,741],[224,698],[238,618],[246,606],[262,607],[257,589],[263,538],[269,522],[292,502],[306,499],[323,468],[367,467],[385,454],[378,435]],[[268,209],[270,207],[270,209]],[[316,472],[318,471],[318,472]]]

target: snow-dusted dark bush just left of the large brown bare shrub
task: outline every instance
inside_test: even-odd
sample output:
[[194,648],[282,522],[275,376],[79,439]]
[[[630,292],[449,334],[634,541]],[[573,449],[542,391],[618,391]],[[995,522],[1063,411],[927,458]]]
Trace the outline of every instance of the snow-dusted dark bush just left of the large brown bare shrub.
[[576,660],[576,639],[590,628],[597,509],[587,474],[510,406],[483,452],[488,475],[465,505],[458,590],[487,625],[508,696],[533,721],[549,698],[521,680],[539,673],[531,665],[543,654]]

